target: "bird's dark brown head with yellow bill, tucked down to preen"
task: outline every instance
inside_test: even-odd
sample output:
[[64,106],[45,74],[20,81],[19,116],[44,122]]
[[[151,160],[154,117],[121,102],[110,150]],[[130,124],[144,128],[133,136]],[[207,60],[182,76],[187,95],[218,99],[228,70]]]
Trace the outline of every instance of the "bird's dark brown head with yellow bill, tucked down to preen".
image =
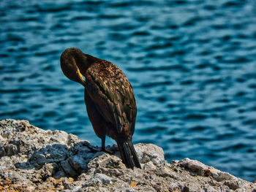
[[86,73],[87,66],[86,55],[78,48],[68,48],[61,54],[61,69],[69,80],[86,85],[83,75]]

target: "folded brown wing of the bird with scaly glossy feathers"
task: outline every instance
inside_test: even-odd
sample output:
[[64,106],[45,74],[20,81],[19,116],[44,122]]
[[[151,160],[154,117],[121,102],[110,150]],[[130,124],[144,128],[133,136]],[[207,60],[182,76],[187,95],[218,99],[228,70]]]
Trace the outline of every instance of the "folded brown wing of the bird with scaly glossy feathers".
[[[106,61],[108,62],[108,61]],[[137,113],[135,95],[127,77],[117,66],[94,64],[86,71],[86,91],[106,121],[133,134]]]

